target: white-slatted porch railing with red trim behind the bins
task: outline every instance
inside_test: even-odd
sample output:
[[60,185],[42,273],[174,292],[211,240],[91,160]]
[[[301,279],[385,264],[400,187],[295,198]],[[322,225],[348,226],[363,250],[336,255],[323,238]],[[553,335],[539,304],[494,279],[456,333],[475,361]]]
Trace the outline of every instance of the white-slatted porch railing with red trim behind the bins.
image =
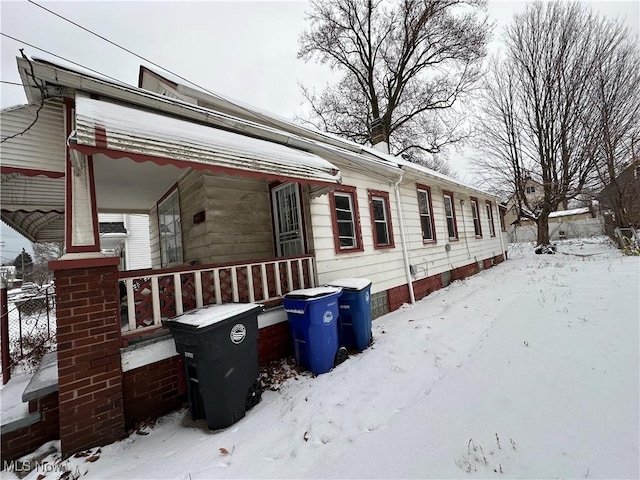
[[278,303],[299,288],[316,286],[311,255],[119,273],[123,333],[157,328],[162,319],[203,305]]

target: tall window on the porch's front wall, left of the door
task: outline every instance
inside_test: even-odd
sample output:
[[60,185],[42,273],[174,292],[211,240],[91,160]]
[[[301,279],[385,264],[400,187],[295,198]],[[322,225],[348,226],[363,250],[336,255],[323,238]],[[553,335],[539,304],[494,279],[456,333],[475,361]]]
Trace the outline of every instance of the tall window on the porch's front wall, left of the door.
[[182,262],[182,230],[180,228],[180,201],[177,185],[158,202],[158,228],[160,231],[160,261],[166,267]]

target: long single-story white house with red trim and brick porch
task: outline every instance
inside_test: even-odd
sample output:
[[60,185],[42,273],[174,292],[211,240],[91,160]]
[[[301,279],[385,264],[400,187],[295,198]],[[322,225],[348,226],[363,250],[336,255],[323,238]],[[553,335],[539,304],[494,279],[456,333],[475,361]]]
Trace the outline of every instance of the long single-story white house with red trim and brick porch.
[[[132,87],[17,61],[29,104],[1,113],[2,137],[12,137],[1,152],[2,220],[32,241],[64,239],[66,253],[49,264],[58,350],[47,366],[57,376],[23,394],[40,417],[3,432],[3,458],[51,438],[64,454],[109,443],[178,407],[184,372],[163,318],[263,303],[267,361],[291,352],[280,306],[291,290],[366,277],[379,316],[505,259],[497,198],[384,145],[146,69]],[[152,268],[121,270],[100,253],[100,214],[149,216]]]

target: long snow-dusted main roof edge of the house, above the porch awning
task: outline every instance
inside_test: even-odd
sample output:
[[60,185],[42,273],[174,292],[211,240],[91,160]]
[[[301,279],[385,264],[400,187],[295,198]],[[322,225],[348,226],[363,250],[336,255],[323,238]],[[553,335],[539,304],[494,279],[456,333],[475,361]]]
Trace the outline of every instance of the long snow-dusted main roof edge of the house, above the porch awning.
[[[206,95],[207,99],[205,101],[213,104],[226,103],[227,106],[235,105],[235,110],[231,112],[227,109],[227,111],[231,113],[212,110],[183,100],[169,98],[149,90],[133,87],[117,80],[114,81],[114,79],[96,75],[93,72],[87,73],[75,66],[69,67],[65,64],[58,64],[37,58],[34,58],[31,62],[22,58],[18,58],[17,60],[21,78],[26,85],[25,91],[27,92],[27,97],[33,102],[39,101],[41,92],[31,80],[29,73],[31,68],[34,69],[36,78],[52,86],[62,85],[66,88],[118,98],[119,100],[150,109],[161,110],[167,114],[188,118],[190,121],[195,120],[216,128],[241,132],[239,135],[243,138],[245,138],[243,134],[246,134],[270,143],[286,145],[292,150],[314,152],[317,155],[329,158],[330,161],[344,160],[346,162],[354,162],[360,166],[364,165],[365,167],[382,169],[395,178],[399,178],[402,175],[398,168],[400,166],[407,171],[426,174],[427,178],[438,179],[454,187],[459,186],[477,191],[482,195],[493,196],[489,192],[463,184],[456,179],[440,174],[427,167],[407,162],[402,158],[390,154],[385,154],[375,148],[363,146],[326,132],[318,132],[306,126],[297,125],[275,114],[264,112],[218,94],[212,95],[210,93],[204,93],[200,89],[183,86],[178,84],[178,82],[173,82],[171,79],[168,79],[168,81],[176,83],[178,87],[183,86],[183,93],[185,95],[189,94],[189,92],[186,91],[186,89],[189,89],[190,92],[198,93],[201,96]],[[166,74],[159,75],[164,77],[168,76]],[[240,114],[240,111],[244,111],[245,113],[249,112],[252,114],[252,117],[248,117],[247,115],[243,116]],[[339,182],[339,179],[334,178],[331,180],[331,183],[336,182]]]

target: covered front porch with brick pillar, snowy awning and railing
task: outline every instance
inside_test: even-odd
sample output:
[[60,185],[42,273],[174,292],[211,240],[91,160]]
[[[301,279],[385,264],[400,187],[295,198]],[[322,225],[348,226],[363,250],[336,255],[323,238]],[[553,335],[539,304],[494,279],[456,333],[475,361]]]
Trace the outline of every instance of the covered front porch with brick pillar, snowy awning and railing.
[[[30,113],[3,112],[2,136],[25,130]],[[44,101],[40,115],[47,121],[3,145],[2,219],[31,241],[65,244],[49,263],[57,308],[51,395],[69,454],[121,438],[150,409],[180,404],[184,379],[169,341],[156,342],[154,363],[123,360],[145,348],[163,318],[211,303],[275,307],[288,291],[316,284],[304,212],[340,173],[279,143],[80,92]],[[238,181],[250,189],[219,198],[221,184]],[[99,212],[150,216],[154,268],[121,271],[119,258],[100,253]],[[218,241],[221,232],[227,242]],[[160,376],[166,391],[150,405],[147,380]]]

